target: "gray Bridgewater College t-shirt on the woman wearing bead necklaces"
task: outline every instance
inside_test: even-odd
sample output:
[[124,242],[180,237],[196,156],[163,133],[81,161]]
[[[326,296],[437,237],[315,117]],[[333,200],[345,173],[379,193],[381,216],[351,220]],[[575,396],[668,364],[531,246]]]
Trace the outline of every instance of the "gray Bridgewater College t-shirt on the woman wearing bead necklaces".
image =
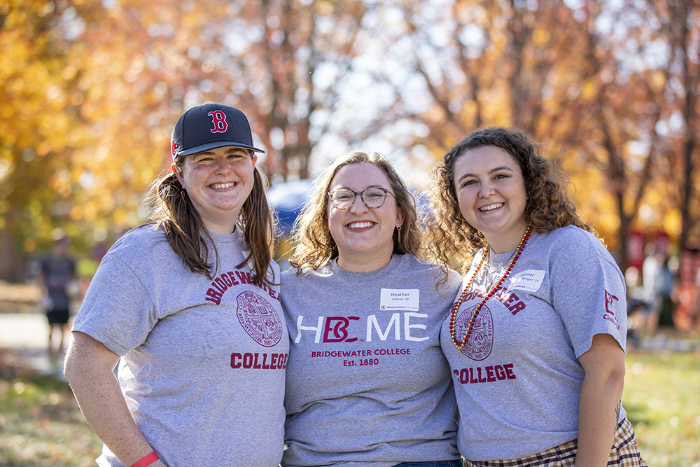
[[[491,251],[496,274],[486,279],[479,272],[473,292],[465,296],[456,320],[459,341],[484,298],[484,284],[494,275],[498,283],[512,253]],[[477,253],[463,286],[483,255]],[[601,333],[624,349],[624,279],[610,253],[574,226],[533,232],[503,286],[482,307],[461,351],[451,342],[449,319],[442,325],[465,459],[514,459],[577,438],[584,377],[577,358]]]

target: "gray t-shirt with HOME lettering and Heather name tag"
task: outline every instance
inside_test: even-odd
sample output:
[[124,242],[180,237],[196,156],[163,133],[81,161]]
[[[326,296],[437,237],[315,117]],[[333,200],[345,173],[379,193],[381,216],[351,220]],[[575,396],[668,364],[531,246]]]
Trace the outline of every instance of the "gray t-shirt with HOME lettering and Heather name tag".
[[282,273],[290,330],[283,466],[458,459],[440,326],[461,277],[394,255],[374,272],[335,260]]

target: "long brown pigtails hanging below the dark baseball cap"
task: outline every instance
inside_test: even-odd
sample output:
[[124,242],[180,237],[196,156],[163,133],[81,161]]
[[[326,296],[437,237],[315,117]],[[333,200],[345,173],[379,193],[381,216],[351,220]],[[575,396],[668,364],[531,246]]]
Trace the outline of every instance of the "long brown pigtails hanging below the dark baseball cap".
[[[182,170],[185,157],[176,158],[178,170]],[[214,277],[218,263],[216,245],[174,172],[169,171],[153,182],[149,200],[154,209],[146,224],[155,224],[165,231],[173,251],[183,259],[190,271],[206,274],[209,279]],[[274,248],[275,220],[268,207],[265,183],[257,167],[253,168],[253,188],[241,207],[237,225],[243,229],[244,239],[251,251],[236,267],[244,267],[252,261],[251,281],[258,286],[263,282],[275,284],[272,274],[271,277],[267,274]],[[214,248],[216,256],[214,264],[207,262],[210,246]]]

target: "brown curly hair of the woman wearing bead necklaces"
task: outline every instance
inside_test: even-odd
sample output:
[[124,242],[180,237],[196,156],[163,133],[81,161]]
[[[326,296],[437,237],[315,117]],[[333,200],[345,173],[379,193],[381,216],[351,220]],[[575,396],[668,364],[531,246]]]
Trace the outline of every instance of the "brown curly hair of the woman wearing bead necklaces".
[[540,144],[530,134],[513,128],[488,127],[468,134],[435,168],[429,246],[433,260],[464,274],[474,253],[486,246],[482,233],[469,225],[459,211],[454,186],[456,161],[466,151],[479,146],[497,146],[518,163],[527,195],[524,216],[535,232],[552,232],[573,224],[598,236],[593,225],[576,213],[566,191],[565,175],[542,155]]

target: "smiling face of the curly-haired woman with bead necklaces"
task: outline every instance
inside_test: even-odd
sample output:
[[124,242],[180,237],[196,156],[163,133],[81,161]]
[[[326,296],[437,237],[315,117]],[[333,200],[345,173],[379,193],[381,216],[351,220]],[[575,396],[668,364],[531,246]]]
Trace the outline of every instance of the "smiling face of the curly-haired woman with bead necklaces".
[[525,229],[527,193],[518,162],[498,146],[465,151],[454,164],[454,186],[465,221],[496,253],[518,246]]

